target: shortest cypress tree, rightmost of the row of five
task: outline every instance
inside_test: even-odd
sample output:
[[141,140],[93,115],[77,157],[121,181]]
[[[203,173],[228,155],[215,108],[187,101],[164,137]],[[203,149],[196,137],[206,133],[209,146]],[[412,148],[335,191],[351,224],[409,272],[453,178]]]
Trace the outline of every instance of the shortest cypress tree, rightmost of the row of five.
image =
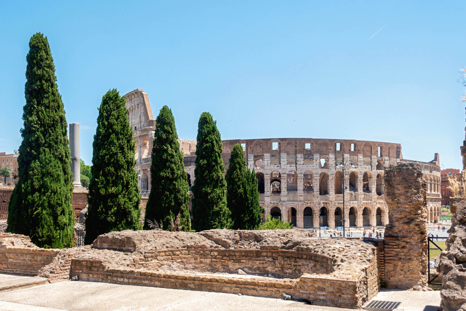
[[258,181],[246,165],[243,147],[233,146],[226,172],[226,202],[232,213],[233,229],[257,229],[262,219]]

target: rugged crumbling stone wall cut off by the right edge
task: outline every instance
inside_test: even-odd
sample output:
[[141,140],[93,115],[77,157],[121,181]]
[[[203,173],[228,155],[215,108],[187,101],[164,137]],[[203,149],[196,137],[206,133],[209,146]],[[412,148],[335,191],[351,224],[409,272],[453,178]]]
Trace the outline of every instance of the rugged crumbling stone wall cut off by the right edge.
[[442,299],[444,311],[466,310],[466,199],[450,198],[452,227],[448,230],[447,250],[440,254],[440,274],[443,276]]

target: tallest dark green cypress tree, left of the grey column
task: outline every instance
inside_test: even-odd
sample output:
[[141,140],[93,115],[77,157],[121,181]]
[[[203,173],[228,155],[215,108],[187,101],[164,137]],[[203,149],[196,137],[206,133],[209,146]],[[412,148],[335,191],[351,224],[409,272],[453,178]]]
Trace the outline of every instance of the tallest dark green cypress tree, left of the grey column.
[[47,37],[31,37],[26,60],[19,180],[8,205],[7,231],[29,235],[40,247],[71,247],[75,218],[68,124]]

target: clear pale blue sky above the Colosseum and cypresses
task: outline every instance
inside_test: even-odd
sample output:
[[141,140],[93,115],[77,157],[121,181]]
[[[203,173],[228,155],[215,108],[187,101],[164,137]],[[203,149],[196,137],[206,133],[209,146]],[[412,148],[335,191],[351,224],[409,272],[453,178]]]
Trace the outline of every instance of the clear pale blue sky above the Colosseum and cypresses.
[[21,144],[28,43],[42,32],[87,164],[103,94],[141,88],[183,139],[209,111],[222,139],[385,141],[461,168],[465,12],[463,0],[3,0],[0,152]]

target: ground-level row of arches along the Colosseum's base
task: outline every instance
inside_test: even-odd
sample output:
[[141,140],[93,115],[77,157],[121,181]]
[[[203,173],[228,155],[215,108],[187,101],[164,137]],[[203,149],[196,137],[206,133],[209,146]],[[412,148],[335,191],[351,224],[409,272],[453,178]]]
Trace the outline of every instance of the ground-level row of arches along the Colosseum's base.
[[[363,207],[362,211],[358,211],[356,207],[350,207],[346,227],[384,226],[386,224],[385,213],[385,209],[381,207],[377,207],[375,214],[372,213],[370,207]],[[293,226],[298,227],[298,213],[294,207],[289,207],[286,215],[282,215],[280,207],[272,207],[270,216],[279,220],[283,218],[290,221]],[[305,207],[302,212],[302,223],[299,227],[343,227],[342,208],[336,207],[335,210],[330,212],[327,207],[321,207],[320,211],[317,208]]]

